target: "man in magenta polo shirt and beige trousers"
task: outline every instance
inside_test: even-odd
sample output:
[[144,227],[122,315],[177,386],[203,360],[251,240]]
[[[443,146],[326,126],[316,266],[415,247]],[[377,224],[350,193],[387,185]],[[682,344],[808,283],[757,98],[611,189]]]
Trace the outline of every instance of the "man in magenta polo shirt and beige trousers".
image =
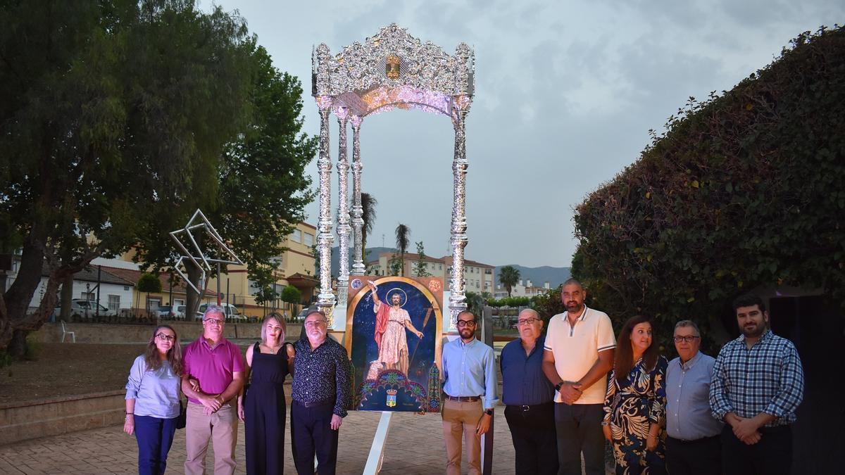
[[[232,405],[244,379],[241,350],[223,338],[223,309],[209,305],[203,335],[185,347],[182,390],[188,396],[185,473],[202,474],[209,439],[214,443],[215,474],[235,472],[237,409]],[[189,379],[196,379],[194,390]]]

